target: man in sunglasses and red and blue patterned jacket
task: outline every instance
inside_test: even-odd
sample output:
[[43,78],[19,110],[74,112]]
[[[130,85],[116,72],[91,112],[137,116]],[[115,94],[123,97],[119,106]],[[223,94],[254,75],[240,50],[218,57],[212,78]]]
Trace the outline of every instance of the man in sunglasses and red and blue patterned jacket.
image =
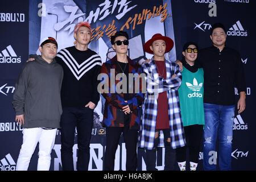
[[[105,75],[101,84],[108,85],[101,91],[106,99],[103,120],[106,127],[105,171],[114,170],[115,152],[122,133],[126,147],[126,170],[137,169],[137,141],[143,94],[141,84],[135,85],[135,82],[140,82],[138,79],[141,67],[127,56],[128,39],[124,31],[118,31],[111,37],[112,48],[117,55],[106,61],[101,68],[101,75]],[[114,79],[110,81],[111,78]]]

